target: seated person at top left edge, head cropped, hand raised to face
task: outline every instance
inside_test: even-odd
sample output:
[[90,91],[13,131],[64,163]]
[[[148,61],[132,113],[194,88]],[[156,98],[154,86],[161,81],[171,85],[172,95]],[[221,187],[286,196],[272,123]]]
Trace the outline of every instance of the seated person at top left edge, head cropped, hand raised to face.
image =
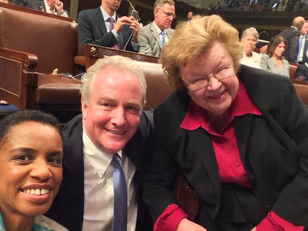
[[68,17],[68,11],[63,9],[63,2],[60,0],[29,0],[28,8],[62,17]]

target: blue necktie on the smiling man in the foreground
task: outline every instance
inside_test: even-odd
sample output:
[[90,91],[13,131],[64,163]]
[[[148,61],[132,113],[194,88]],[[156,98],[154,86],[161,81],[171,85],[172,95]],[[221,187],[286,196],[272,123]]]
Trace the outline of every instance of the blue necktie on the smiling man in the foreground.
[[114,154],[111,163],[114,197],[112,231],[127,231],[127,187],[121,157]]

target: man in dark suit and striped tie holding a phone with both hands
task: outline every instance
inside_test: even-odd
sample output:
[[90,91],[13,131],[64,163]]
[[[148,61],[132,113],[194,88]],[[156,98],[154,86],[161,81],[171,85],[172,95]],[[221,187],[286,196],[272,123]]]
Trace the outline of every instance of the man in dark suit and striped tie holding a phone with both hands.
[[96,9],[78,15],[78,38],[84,47],[91,43],[121,50],[139,51],[139,23],[133,16],[116,14],[121,0],[102,0]]

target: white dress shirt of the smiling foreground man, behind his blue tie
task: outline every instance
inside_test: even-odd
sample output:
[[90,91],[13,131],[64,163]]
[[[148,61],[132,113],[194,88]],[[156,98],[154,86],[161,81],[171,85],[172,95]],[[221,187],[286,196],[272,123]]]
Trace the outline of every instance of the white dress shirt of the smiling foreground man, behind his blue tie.
[[[112,231],[113,221],[113,166],[112,155],[98,149],[82,132],[84,161],[84,214],[82,231]],[[136,230],[137,198],[134,175],[136,167],[122,152],[123,172],[126,178],[128,216],[127,231]]]

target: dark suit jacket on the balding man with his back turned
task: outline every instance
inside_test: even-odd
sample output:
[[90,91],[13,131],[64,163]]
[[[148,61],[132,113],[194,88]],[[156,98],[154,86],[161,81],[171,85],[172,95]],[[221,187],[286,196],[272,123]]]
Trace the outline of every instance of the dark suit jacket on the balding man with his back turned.
[[289,61],[289,63],[296,63],[301,32],[293,27],[290,27],[280,32],[279,35],[286,39],[288,42],[282,56],[284,56],[285,59]]

